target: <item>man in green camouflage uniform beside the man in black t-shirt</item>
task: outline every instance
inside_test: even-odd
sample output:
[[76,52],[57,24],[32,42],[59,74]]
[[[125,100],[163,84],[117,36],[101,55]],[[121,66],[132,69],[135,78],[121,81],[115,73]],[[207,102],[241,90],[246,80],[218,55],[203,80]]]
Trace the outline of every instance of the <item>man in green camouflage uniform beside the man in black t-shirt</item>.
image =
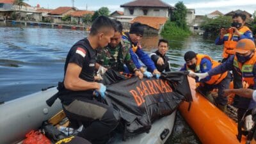
[[131,44],[128,40],[121,40],[122,38],[122,24],[117,20],[113,20],[116,26],[115,35],[111,38],[111,42],[104,49],[97,50],[97,67],[104,67],[106,69],[113,68],[118,72],[124,72],[124,64],[129,68],[130,72],[134,72],[135,76],[140,78],[143,74],[134,65],[129,48]]

